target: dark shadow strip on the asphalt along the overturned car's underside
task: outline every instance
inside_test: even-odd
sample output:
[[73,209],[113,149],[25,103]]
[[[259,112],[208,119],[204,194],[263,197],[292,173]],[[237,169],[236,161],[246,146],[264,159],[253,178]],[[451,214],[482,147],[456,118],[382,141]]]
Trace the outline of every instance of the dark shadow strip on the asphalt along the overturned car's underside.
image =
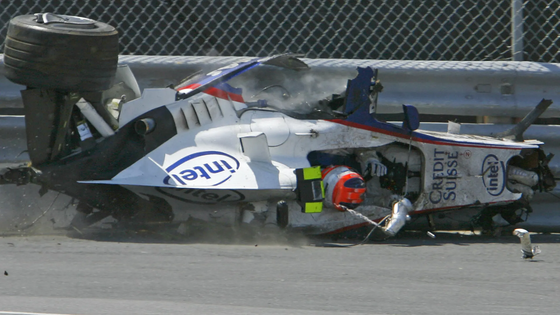
[[[240,229],[207,229],[188,235],[175,230],[103,230],[89,229],[70,231],[67,236],[95,240],[97,242],[129,242],[129,243],[164,243],[164,244],[231,244],[231,245],[287,245],[302,247],[315,245],[318,247],[338,247],[360,243],[365,235],[362,233],[323,235],[310,237],[301,233],[288,231],[240,230]],[[385,244],[395,247],[442,246],[454,244],[469,246],[478,243],[519,243],[519,238],[504,232],[502,236],[492,237],[472,234],[470,231],[435,231],[435,238],[428,237],[421,231],[402,231],[396,237],[383,239],[381,233],[374,233],[366,244]],[[531,240],[539,243],[560,243],[560,234],[532,234]],[[331,245],[335,244],[335,245]]]

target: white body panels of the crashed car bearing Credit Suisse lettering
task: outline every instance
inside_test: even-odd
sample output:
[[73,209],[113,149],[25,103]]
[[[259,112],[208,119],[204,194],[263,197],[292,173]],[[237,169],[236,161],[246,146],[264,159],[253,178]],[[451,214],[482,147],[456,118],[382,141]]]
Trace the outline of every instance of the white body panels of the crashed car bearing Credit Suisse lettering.
[[[124,104],[120,125],[156,107],[156,100],[171,101],[173,95],[170,89],[144,91],[141,98]],[[521,149],[540,143],[427,131],[410,140],[382,128],[295,119],[205,93],[172,100],[166,106],[174,117],[177,135],[113,179],[91,183],[119,184],[143,196],[165,198],[176,213],[175,220],[208,219],[210,215],[216,221],[223,217],[217,213],[228,212],[230,219],[222,223],[233,224],[240,204],[258,201],[267,201],[269,206],[263,211],[272,213],[277,201],[295,198],[294,170],[310,166],[309,152],[332,149],[378,148],[391,161],[408,160],[410,170],[422,174],[416,182],[413,178],[408,182],[411,191],[419,192],[412,213],[511,202],[521,194],[506,188],[507,161]],[[386,146],[394,142],[418,150],[407,155]],[[302,214],[295,202],[290,202],[290,209],[289,226],[314,233],[364,223],[335,209]],[[187,215],[180,215],[185,211]],[[363,205],[356,211],[381,219],[391,210]]]

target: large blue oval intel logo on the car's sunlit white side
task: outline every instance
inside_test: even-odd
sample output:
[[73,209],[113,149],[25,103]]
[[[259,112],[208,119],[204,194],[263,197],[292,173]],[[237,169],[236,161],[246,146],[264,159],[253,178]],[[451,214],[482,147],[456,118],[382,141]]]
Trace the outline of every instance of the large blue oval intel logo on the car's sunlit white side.
[[179,159],[165,169],[164,184],[172,186],[217,186],[239,169],[239,161],[219,151],[197,152]]

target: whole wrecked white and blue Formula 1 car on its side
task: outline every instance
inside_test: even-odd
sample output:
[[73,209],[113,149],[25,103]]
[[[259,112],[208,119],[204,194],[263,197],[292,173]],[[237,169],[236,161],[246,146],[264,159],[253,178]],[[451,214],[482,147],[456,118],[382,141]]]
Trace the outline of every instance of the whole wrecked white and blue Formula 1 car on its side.
[[[23,47],[49,50],[63,39],[69,48],[58,47],[53,67],[37,66],[43,52]],[[4,63],[7,77],[27,86],[31,164],[6,170],[2,183],[77,198],[78,227],[113,216],[123,224],[195,219],[310,234],[379,225],[392,236],[410,217],[454,209],[515,224],[535,191],[556,185],[542,142],[522,139],[551,101],[498,137],[458,134],[454,123],[428,132],[417,130],[413,106],[403,105],[402,126],[375,118],[382,86],[371,67],[357,68],[345,91],[305,100],[300,110],[285,106],[289,91],[282,100],[251,98],[227,83],[255,67],[305,70],[292,54],[140,95],[128,67],[117,68],[116,47],[114,29],[85,18],[21,16],[8,28]]]

